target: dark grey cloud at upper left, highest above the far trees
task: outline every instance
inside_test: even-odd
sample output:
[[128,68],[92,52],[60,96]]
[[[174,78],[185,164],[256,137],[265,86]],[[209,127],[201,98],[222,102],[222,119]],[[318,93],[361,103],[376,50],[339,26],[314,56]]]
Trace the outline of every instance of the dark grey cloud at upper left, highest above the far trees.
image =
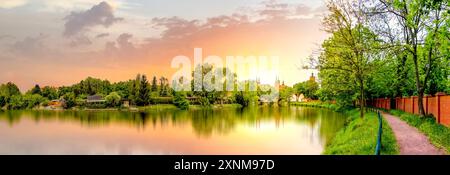
[[64,33],[66,37],[74,36],[88,30],[90,27],[103,26],[108,28],[114,23],[123,20],[114,16],[113,7],[107,2],[94,5],[91,9],[83,12],[72,12],[64,18]]

